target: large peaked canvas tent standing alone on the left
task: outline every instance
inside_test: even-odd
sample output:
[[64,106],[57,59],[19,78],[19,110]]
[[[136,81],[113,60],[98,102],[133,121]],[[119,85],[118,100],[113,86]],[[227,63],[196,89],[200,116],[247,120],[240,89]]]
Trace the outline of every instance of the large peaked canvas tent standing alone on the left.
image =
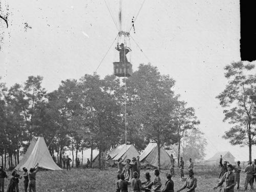
[[40,168],[61,170],[61,168],[53,161],[51,154],[47,148],[45,139],[43,137],[39,137],[35,144],[33,144],[33,142],[34,141],[32,139],[24,158],[15,167],[15,169],[22,170],[23,167],[29,169],[34,167],[38,163]]

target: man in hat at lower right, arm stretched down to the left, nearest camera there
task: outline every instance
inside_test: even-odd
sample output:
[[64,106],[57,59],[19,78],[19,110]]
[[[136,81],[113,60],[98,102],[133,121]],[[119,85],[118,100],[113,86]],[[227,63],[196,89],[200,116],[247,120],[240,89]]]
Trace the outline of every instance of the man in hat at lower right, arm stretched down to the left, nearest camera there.
[[237,181],[234,173],[232,172],[233,166],[231,164],[227,165],[227,172],[223,175],[220,182],[214,189],[217,189],[219,186],[221,186],[225,182],[225,188],[224,192],[233,192],[234,186],[236,186]]

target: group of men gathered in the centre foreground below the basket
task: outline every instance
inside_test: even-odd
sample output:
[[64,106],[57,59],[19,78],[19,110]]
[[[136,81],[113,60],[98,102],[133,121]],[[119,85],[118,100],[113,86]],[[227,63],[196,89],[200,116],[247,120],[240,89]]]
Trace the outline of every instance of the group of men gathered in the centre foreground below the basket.
[[[166,174],[166,182],[164,188],[161,190],[161,179],[159,177],[160,171],[158,169],[154,170],[155,178],[153,181],[151,181],[151,175],[150,173],[146,172],[144,175],[145,180],[141,182],[140,180],[140,161],[139,156],[137,156],[137,159],[135,157],[132,158],[133,163],[131,163],[130,159],[126,159],[125,166],[123,167],[122,162],[123,160],[120,158],[118,159],[118,175],[117,175],[117,182],[116,182],[116,192],[127,192],[128,185],[131,185],[131,189],[134,192],[139,192],[141,190],[144,190],[145,192],[150,192],[151,190],[154,191],[174,191],[174,181],[172,180],[172,176],[174,176],[174,167],[171,166],[171,173],[165,173]],[[172,163],[175,163],[173,156],[171,156]],[[182,170],[182,174],[184,177],[184,162],[181,158],[181,166],[180,168]],[[194,177],[193,172],[193,162],[189,164],[188,169],[188,178],[186,178],[186,181],[184,185],[177,190],[177,192],[187,188],[187,191],[194,192],[195,188],[197,187],[197,179]]]

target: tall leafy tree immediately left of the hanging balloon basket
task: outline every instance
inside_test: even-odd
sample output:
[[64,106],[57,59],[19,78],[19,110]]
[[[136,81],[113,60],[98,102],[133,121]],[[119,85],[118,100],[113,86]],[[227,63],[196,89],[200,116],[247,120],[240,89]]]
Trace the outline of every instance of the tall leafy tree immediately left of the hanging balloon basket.
[[[99,75],[84,75],[80,79],[80,101],[82,110],[82,125],[87,135],[88,144],[99,149],[99,154],[119,140],[120,132],[120,105],[117,99],[119,81],[114,76],[106,76],[101,80]],[[91,159],[92,160],[92,159]],[[92,163],[92,161],[91,161]],[[101,162],[99,158],[99,168]]]

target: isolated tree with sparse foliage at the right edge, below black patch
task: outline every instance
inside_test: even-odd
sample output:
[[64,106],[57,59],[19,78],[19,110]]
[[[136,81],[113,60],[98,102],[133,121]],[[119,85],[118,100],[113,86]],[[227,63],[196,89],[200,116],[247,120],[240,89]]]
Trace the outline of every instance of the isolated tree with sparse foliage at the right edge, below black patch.
[[255,87],[256,76],[250,75],[254,69],[251,63],[242,61],[227,65],[225,77],[228,83],[217,98],[224,108],[225,118],[232,127],[225,132],[223,138],[229,139],[232,145],[247,145],[249,147],[249,160],[251,161],[251,146],[255,144]]

